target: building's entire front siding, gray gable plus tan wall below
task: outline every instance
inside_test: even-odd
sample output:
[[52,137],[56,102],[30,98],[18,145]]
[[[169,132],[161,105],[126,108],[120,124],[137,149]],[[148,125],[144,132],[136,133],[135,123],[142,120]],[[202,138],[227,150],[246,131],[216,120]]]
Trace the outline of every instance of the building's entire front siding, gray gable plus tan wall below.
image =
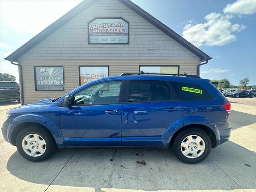
[[[88,44],[88,22],[122,17],[130,24],[129,44]],[[78,66],[106,65],[110,76],[138,72],[140,65],[179,65],[197,73],[200,58],[117,0],[98,0],[19,59],[24,104],[59,97],[79,86]],[[33,66],[64,66],[64,91],[35,91]]]

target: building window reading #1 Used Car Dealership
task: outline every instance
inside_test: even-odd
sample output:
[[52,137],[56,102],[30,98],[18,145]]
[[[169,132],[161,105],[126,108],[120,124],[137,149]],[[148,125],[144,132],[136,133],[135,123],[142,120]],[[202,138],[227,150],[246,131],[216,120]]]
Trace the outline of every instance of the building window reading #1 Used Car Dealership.
[[35,90],[64,90],[63,66],[34,66]]

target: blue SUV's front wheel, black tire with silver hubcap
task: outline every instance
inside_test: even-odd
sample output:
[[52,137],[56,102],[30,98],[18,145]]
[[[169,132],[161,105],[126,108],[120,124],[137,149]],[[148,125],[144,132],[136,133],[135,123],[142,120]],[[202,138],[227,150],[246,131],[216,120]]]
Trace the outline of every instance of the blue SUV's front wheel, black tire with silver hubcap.
[[45,160],[56,150],[52,136],[46,130],[34,126],[18,134],[16,147],[20,155],[30,161]]

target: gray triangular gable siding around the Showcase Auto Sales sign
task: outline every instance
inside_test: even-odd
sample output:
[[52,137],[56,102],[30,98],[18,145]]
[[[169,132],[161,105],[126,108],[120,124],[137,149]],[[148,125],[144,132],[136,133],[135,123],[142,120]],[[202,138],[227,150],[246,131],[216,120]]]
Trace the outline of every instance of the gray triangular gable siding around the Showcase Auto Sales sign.
[[[88,22],[95,17],[127,20],[130,23],[130,43],[88,44]],[[31,59],[199,60],[198,56],[117,0],[97,1],[19,58]]]

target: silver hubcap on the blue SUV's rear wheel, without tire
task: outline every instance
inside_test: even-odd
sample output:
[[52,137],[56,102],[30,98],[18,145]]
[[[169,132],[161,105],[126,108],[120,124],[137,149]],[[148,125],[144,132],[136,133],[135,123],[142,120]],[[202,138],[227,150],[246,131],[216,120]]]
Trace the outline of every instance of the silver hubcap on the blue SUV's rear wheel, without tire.
[[204,153],[205,142],[198,135],[189,135],[180,144],[180,150],[187,158],[198,158]]

